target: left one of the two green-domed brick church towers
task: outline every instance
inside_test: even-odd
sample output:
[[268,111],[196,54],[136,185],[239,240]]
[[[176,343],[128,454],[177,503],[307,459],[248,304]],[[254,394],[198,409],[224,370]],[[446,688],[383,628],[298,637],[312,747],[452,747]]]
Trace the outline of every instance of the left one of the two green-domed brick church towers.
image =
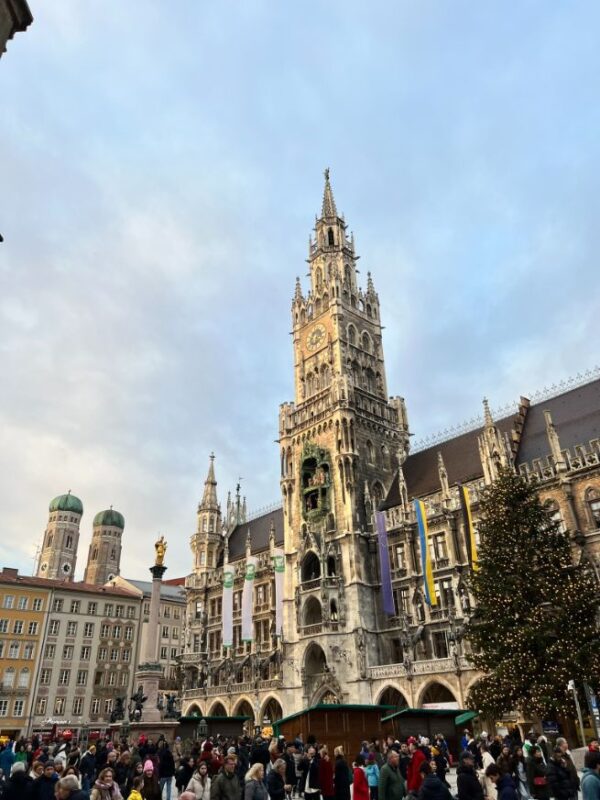
[[36,575],[38,578],[72,581],[77,563],[83,504],[69,491],[55,497],[48,510],[50,514]]

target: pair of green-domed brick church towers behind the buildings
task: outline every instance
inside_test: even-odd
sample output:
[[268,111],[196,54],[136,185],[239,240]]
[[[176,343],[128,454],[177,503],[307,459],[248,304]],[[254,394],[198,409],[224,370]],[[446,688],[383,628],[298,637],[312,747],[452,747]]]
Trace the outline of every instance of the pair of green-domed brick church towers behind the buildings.
[[[48,524],[44,531],[36,576],[72,581],[77,563],[83,503],[71,492],[67,492],[55,497],[48,510]],[[104,584],[119,574],[124,529],[125,519],[118,511],[109,508],[96,514],[84,583]]]

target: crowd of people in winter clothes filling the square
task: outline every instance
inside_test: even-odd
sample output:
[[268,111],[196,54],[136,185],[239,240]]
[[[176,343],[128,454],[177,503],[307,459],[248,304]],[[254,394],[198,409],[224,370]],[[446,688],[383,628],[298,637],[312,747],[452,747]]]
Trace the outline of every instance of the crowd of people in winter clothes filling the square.
[[172,746],[31,740],[0,750],[1,800],[600,800],[600,748],[579,776],[565,739],[529,734],[478,737],[465,731],[456,762],[444,736],[365,740],[348,755],[312,736],[217,736]]

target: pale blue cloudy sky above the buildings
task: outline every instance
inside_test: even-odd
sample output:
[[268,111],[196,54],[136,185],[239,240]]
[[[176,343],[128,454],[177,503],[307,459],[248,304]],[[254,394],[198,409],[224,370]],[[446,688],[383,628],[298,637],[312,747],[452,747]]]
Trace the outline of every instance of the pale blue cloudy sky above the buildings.
[[598,361],[600,6],[30,0],[0,62],[0,564],[47,504],[191,567],[278,499],[290,299],[331,168],[416,437]]

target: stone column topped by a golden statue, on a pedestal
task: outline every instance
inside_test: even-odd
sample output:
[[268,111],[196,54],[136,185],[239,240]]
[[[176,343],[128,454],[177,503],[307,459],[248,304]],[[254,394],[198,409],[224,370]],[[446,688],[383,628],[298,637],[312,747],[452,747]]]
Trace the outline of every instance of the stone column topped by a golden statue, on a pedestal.
[[[156,560],[154,566],[150,567],[152,573],[152,596],[150,599],[150,617],[144,646],[142,663],[136,670],[135,678],[138,687],[141,687],[141,694],[145,697],[142,707],[139,709],[142,714],[143,722],[159,722],[161,713],[158,708],[158,683],[162,677],[162,667],[158,662],[158,637],[160,633],[160,588],[162,577],[167,571],[164,565],[167,543],[164,536],[155,542]],[[138,696],[140,689],[138,688]],[[134,712],[134,719],[137,714]],[[139,718],[139,717],[138,717]]]

